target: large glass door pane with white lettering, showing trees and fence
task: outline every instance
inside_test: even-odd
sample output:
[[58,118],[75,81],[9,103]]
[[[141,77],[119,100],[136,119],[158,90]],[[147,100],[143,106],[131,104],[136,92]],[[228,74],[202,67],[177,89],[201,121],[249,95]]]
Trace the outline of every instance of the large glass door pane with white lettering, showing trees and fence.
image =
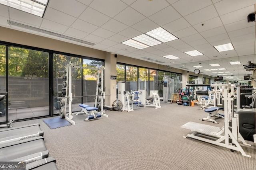
[[8,47],[8,115],[49,115],[49,53]]

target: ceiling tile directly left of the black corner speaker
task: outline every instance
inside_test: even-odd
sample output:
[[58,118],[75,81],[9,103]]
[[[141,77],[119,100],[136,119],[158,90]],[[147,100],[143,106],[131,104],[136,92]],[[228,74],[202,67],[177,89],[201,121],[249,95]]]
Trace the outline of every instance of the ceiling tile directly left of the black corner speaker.
[[222,20],[222,23],[224,25],[227,25],[229,23],[247,19],[248,14],[250,14],[251,12],[254,12],[254,5],[222,15],[220,16],[220,19]]

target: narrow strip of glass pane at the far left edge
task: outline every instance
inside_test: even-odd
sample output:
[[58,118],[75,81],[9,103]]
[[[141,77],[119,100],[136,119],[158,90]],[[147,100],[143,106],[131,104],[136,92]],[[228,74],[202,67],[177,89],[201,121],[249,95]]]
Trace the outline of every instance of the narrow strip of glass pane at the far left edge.
[[[0,92],[6,92],[6,46],[0,45]],[[6,98],[0,102],[0,122],[6,121]]]

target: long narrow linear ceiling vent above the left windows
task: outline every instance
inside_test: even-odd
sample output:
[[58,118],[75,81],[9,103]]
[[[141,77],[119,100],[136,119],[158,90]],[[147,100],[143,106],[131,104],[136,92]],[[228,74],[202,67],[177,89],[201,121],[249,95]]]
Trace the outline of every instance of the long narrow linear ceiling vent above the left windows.
[[51,32],[51,31],[46,31],[44,29],[32,27],[32,26],[29,26],[29,25],[25,25],[25,24],[14,22],[14,21],[10,21],[10,20],[7,20],[7,21],[8,21],[9,25],[14,25],[14,26],[17,26],[17,27],[26,28],[26,29],[30,29],[30,30],[33,30],[33,31],[38,31],[38,32],[41,32],[41,33],[46,33],[48,35],[54,35],[56,37],[62,37],[64,39],[69,39],[69,40],[72,40],[72,41],[76,41],[76,42],[80,42],[80,43],[84,43],[84,44],[88,44],[88,45],[95,45],[94,43],[90,43],[88,41],[83,41],[81,39],[76,39],[76,38],[68,37],[66,35],[61,35],[61,34],[58,34],[58,33]]

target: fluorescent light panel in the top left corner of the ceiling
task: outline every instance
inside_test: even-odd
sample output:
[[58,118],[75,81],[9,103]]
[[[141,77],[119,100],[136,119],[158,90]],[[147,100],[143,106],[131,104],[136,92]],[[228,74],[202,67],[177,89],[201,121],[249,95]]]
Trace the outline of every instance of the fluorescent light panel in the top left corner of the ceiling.
[[0,0],[0,4],[42,17],[44,15],[48,0],[38,0],[38,2],[34,2],[32,0]]

